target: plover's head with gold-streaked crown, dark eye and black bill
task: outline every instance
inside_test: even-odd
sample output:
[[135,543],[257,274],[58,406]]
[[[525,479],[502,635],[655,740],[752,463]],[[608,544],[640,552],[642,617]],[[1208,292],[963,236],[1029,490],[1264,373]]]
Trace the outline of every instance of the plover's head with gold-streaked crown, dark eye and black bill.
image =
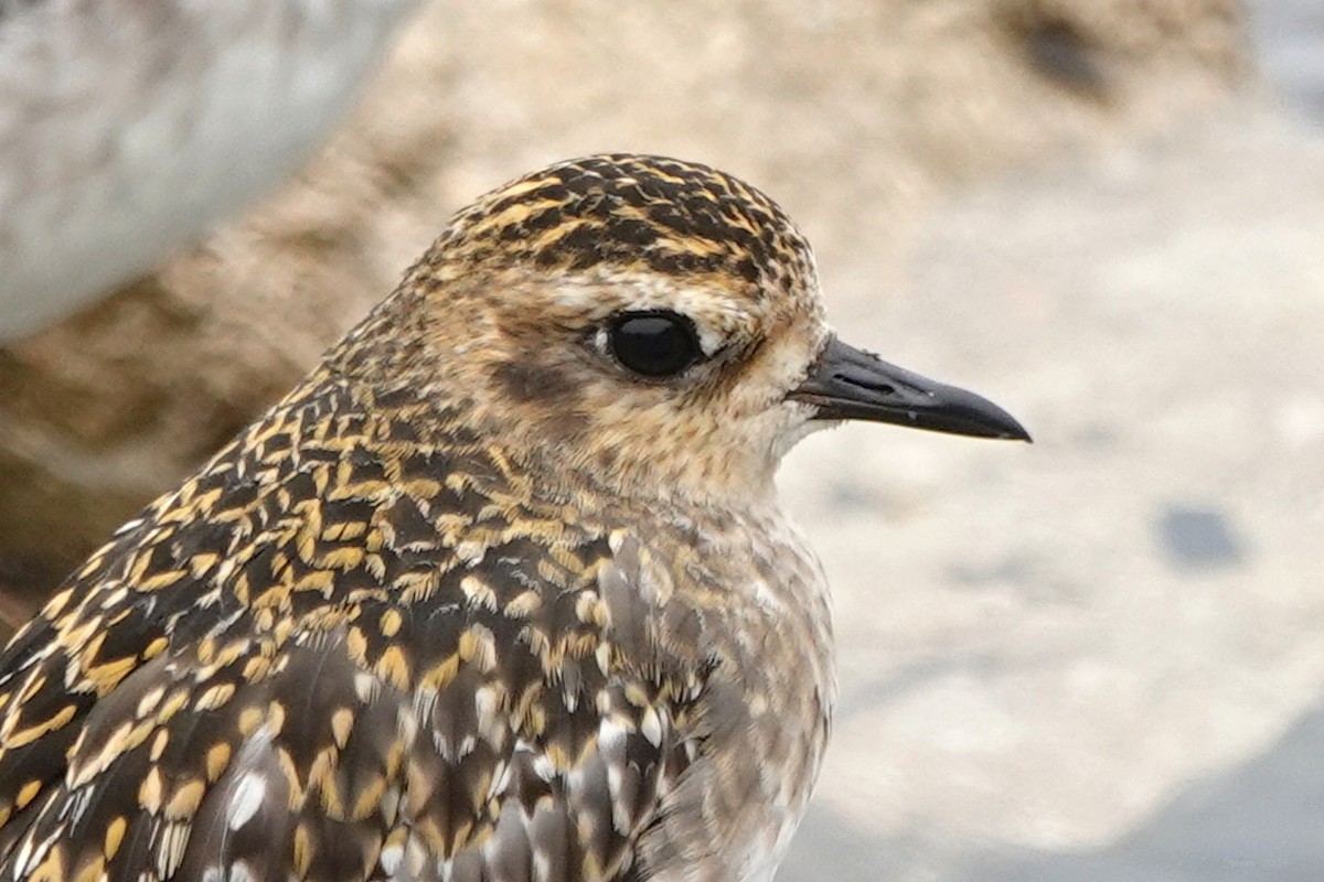
[[842,342],[785,213],[670,159],[571,160],[489,193],[379,312],[369,325],[405,340],[379,377],[626,496],[765,495],[800,438],[842,419],[1029,438],[990,402]]

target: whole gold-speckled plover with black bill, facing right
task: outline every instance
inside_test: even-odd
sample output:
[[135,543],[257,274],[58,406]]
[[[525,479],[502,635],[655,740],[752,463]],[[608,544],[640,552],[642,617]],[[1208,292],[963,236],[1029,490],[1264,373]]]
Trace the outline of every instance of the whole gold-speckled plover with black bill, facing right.
[[842,419],[1027,439],[733,177],[490,193],[11,643],[0,882],[767,882],[834,694],[773,472]]

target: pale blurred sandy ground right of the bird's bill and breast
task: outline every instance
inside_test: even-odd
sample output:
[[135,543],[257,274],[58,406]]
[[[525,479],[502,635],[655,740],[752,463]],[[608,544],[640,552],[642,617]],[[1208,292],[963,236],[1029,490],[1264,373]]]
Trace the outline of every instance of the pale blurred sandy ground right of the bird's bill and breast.
[[842,700],[782,882],[1324,878],[1324,78],[1284,70],[967,192],[902,278],[825,267],[842,336],[1037,443],[792,455]]

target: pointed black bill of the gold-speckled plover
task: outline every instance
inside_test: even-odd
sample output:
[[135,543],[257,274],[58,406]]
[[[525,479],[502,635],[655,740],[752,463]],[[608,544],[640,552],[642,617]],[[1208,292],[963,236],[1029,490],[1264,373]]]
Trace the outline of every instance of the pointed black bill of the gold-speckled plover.
[[809,377],[788,395],[814,419],[865,419],[952,435],[1029,442],[1012,414],[972,391],[945,386],[830,337]]

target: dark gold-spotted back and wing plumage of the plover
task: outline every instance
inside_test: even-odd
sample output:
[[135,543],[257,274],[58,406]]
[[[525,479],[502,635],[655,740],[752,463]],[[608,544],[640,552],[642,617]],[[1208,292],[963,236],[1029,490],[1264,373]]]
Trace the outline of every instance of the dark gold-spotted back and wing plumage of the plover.
[[465,460],[328,436],[267,468],[279,434],[148,509],[0,657],[0,879],[646,878],[698,693],[650,662],[641,546],[502,520],[493,463],[442,481]]

